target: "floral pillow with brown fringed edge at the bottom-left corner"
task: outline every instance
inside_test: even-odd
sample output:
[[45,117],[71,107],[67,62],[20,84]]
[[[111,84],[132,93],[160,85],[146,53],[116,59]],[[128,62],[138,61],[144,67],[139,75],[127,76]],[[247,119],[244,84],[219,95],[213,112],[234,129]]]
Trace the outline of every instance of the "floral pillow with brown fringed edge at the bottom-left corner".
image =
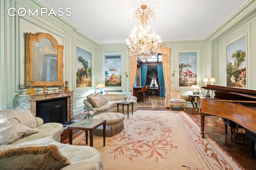
[[70,161],[53,144],[26,144],[0,146],[1,169],[57,170]]

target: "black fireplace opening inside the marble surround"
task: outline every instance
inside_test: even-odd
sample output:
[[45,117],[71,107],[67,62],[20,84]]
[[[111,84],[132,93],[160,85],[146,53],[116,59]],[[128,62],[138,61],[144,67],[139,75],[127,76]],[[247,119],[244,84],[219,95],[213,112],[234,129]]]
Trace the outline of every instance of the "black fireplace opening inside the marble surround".
[[55,122],[66,124],[67,98],[36,102],[36,117],[44,120],[44,123]]

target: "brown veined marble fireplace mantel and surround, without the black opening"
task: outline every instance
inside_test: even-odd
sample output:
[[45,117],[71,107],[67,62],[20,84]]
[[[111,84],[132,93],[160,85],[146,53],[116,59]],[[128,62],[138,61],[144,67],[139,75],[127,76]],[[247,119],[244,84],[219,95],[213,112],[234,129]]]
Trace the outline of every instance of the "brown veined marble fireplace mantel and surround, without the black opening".
[[34,95],[17,95],[17,109],[30,109],[31,113],[36,116],[36,102],[47,101],[52,99],[67,98],[67,121],[73,118],[73,91],[62,91],[54,93],[38,93]]

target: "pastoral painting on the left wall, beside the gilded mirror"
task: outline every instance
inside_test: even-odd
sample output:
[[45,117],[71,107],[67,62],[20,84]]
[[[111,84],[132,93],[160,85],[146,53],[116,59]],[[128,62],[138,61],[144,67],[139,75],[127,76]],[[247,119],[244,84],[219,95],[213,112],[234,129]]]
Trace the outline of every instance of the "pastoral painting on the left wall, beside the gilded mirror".
[[92,87],[92,53],[76,47],[76,87]]

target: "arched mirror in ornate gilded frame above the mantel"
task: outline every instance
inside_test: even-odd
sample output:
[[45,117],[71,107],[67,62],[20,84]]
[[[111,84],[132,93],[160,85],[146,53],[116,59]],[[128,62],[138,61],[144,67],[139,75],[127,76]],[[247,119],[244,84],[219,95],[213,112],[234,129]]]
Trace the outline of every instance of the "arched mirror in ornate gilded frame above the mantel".
[[63,49],[48,33],[26,33],[26,86],[63,85]]

